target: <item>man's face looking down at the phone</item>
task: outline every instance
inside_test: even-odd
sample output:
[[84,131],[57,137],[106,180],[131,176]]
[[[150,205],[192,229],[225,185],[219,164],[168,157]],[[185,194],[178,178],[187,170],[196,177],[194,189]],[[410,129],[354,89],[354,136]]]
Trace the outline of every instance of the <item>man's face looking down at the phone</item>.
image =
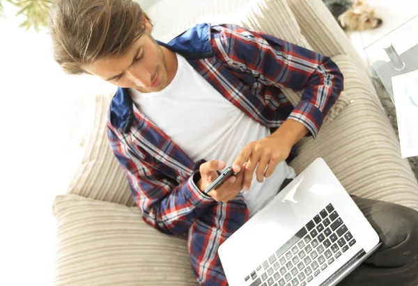
[[118,57],[101,58],[84,65],[84,70],[122,88],[136,88],[143,93],[160,91],[169,84],[164,52],[147,33],[134,42],[127,53]]

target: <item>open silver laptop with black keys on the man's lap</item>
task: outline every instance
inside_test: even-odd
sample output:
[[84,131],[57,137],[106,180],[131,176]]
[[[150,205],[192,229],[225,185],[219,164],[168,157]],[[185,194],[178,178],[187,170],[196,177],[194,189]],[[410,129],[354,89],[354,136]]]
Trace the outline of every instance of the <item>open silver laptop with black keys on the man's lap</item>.
[[380,239],[321,158],[219,246],[230,286],[336,285]]

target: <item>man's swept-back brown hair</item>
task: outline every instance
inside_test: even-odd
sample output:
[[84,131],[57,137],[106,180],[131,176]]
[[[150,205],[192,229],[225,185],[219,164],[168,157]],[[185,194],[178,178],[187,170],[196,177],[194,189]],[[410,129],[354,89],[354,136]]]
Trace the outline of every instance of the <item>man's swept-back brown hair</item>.
[[148,15],[132,0],[57,0],[49,12],[54,59],[68,74],[122,56],[145,31]]

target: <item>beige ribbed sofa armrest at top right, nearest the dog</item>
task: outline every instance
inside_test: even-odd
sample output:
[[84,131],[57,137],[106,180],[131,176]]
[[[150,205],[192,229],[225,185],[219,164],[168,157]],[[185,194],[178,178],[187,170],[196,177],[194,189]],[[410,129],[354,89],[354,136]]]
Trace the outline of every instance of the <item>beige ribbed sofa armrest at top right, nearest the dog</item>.
[[288,0],[288,4],[299,23],[302,35],[307,38],[314,51],[330,57],[346,54],[366,68],[322,0]]

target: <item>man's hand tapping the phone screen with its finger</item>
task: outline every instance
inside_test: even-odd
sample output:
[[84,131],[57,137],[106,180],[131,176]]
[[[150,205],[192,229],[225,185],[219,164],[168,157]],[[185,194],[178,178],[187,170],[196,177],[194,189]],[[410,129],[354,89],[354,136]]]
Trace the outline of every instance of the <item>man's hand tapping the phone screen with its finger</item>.
[[[263,182],[264,177],[270,177],[277,164],[289,156],[291,148],[291,145],[271,135],[245,145],[233,163],[234,172],[245,173],[242,189],[249,190],[254,170],[258,182]],[[246,162],[247,166],[244,166]]]

